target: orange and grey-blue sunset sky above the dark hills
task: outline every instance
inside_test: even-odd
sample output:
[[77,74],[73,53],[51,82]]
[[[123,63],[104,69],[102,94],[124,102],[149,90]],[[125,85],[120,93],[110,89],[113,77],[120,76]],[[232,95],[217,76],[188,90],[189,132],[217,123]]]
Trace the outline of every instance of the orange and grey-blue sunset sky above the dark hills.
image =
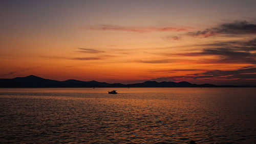
[[0,1],[0,78],[256,85],[256,1]]

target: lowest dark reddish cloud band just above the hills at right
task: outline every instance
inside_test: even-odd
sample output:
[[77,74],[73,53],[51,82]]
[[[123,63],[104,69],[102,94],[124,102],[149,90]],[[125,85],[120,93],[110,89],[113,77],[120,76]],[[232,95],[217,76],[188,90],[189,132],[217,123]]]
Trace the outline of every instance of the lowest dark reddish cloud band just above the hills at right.
[[170,81],[170,80],[184,80],[184,79],[256,79],[256,68],[241,68],[237,70],[210,70],[203,73],[187,74],[181,76],[158,77],[151,80],[156,81]]

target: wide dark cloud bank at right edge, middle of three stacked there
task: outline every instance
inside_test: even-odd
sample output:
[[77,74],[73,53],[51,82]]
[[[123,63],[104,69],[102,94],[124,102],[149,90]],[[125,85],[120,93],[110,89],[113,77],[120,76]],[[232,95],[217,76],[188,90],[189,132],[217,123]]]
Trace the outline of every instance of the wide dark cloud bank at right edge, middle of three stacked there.
[[[255,38],[256,39],[256,38]],[[215,59],[206,59],[211,63],[238,63],[238,64],[256,64],[256,40],[252,39],[246,42],[220,42],[207,44],[199,52],[176,53],[165,55],[179,56],[217,56]]]

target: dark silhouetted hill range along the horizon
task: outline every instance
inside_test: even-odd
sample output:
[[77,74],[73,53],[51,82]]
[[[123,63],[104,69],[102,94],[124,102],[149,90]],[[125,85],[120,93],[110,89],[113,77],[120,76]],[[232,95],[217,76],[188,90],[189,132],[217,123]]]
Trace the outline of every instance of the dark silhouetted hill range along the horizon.
[[145,81],[144,83],[137,84],[108,84],[98,81],[80,81],[75,79],[69,79],[65,81],[45,79],[34,75],[29,75],[26,77],[16,77],[16,78],[0,78],[1,88],[219,88],[219,87],[255,87],[252,85],[243,86],[232,86],[224,85],[217,86],[211,84],[191,84],[186,81],[181,81],[175,83],[173,81],[163,81],[158,83],[157,81]]

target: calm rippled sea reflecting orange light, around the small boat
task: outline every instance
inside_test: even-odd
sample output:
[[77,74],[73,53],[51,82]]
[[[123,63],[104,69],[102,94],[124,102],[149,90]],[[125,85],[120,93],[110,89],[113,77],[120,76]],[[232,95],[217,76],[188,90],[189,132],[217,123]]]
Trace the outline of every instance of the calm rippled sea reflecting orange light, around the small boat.
[[255,88],[0,89],[0,111],[1,143],[256,143]]

